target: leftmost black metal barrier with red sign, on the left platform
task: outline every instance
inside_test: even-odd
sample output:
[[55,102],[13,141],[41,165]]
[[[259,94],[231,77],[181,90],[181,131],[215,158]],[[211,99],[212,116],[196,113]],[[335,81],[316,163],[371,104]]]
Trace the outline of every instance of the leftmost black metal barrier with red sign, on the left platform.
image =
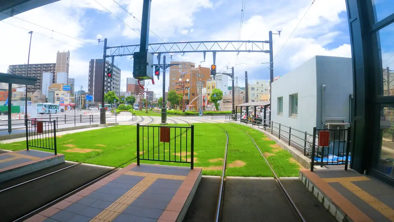
[[26,119],[26,150],[30,147],[53,150],[56,148],[56,120],[42,121]]

